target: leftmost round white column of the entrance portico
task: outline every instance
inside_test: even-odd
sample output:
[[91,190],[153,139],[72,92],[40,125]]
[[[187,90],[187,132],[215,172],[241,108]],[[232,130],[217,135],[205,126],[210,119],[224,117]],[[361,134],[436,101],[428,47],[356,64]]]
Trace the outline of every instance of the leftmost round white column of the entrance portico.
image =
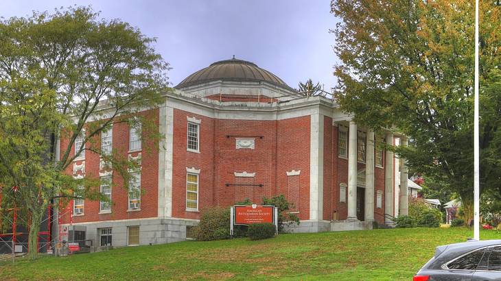
[[348,217],[357,220],[357,124],[349,122],[348,138]]

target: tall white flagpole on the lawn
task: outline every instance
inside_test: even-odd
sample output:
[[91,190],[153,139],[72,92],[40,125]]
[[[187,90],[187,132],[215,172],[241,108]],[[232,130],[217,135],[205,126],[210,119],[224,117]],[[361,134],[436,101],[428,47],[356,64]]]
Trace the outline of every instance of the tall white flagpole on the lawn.
[[480,241],[480,149],[478,143],[478,0],[475,1],[474,239]]

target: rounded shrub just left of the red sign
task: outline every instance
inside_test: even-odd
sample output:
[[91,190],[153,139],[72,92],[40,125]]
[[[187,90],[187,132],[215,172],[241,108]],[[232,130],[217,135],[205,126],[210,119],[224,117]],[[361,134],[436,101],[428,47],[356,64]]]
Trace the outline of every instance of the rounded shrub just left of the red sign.
[[200,241],[228,239],[230,236],[230,209],[213,207],[202,210],[196,229]]

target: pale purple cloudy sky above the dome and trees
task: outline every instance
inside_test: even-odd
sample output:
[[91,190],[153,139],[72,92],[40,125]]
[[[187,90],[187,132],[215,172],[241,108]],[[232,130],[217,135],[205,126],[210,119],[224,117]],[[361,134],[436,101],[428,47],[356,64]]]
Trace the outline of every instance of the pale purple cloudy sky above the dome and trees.
[[156,50],[172,66],[175,86],[217,60],[250,60],[289,86],[311,77],[329,90],[338,62],[332,45],[336,19],[329,0],[62,1],[2,3],[0,16],[26,16],[68,5],[92,5],[105,19],[121,19],[156,37]]

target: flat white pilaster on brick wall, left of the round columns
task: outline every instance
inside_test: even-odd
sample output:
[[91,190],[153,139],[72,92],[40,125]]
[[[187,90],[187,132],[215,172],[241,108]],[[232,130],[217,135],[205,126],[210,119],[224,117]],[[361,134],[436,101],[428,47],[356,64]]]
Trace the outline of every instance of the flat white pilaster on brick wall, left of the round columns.
[[310,220],[323,219],[323,115],[310,116]]

